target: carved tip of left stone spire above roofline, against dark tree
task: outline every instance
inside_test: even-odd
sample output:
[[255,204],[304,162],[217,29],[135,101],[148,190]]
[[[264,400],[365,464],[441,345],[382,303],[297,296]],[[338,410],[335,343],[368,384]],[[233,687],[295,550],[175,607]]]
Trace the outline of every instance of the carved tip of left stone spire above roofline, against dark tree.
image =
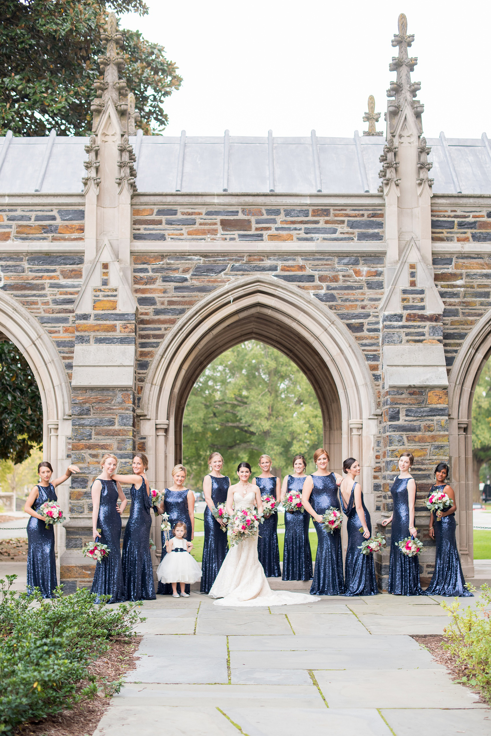
[[90,110],[93,112],[92,130],[97,129],[101,114],[109,100],[118,111],[123,134],[135,135],[135,121],[140,120],[139,113],[135,112],[135,96],[126,87],[126,81],[119,78],[119,72],[124,63],[121,47],[123,34],[118,31],[118,21],[114,13],[107,16],[107,32],[101,34],[102,43],[107,46],[106,53],[98,57],[99,66],[104,69],[104,79],[97,79],[94,87],[97,90]]

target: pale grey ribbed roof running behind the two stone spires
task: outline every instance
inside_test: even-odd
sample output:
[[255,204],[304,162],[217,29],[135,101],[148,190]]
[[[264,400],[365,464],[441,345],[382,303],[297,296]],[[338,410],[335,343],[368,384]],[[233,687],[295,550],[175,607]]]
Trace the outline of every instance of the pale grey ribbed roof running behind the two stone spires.
[[[0,194],[79,193],[88,138],[0,137]],[[141,192],[376,192],[383,137],[130,138]],[[7,143],[7,145],[6,145]],[[428,138],[434,194],[491,194],[491,146],[482,138]],[[227,166],[228,163],[228,166]]]

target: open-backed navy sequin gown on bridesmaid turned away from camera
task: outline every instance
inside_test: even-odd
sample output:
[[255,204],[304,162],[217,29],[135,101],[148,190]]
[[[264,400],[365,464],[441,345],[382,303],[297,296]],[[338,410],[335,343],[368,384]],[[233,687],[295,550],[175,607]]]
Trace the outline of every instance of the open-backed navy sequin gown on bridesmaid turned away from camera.
[[[354,489],[356,481],[351,489],[351,495],[348,505],[345,504],[343,494],[340,492],[340,501],[343,512],[348,517],[348,549],[345,557],[345,595],[376,595],[379,592],[377,587],[377,578],[375,576],[375,564],[373,562],[373,554],[362,554],[359,546],[365,541],[362,528],[362,522],[356,512],[354,502]],[[372,534],[372,523],[370,514],[365,506],[362,492],[362,506],[365,512],[365,521],[367,523],[370,535]]]

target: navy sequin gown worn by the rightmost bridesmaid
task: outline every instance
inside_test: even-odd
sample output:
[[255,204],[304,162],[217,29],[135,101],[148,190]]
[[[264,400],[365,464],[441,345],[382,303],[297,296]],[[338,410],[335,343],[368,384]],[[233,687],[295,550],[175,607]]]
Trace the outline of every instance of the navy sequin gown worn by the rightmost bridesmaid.
[[[434,491],[443,490],[447,484],[431,486],[429,495]],[[433,512],[432,512],[433,513]],[[471,598],[473,594],[467,590],[464,573],[460,565],[459,552],[455,540],[455,514],[448,514],[437,520],[433,514],[434,539],[437,543],[437,556],[434,561],[434,573],[425,595],[459,595],[462,598]]]

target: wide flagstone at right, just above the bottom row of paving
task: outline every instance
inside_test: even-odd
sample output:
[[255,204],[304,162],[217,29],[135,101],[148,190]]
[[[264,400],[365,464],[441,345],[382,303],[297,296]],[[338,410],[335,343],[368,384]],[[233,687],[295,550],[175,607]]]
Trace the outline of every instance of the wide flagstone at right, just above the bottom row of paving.
[[[343,670],[315,672],[329,707],[485,708],[467,687],[451,682],[445,670]],[[429,697],[430,694],[430,697]]]

